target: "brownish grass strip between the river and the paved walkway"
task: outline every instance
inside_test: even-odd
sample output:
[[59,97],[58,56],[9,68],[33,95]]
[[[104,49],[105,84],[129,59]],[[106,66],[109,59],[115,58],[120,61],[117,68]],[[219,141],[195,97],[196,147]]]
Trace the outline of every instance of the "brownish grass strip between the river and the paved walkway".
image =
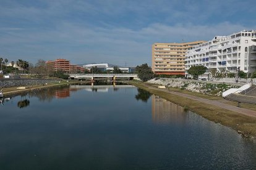
[[[198,100],[192,100],[187,97],[183,97],[177,94],[169,94],[166,91],[157,89],[158,84],[142,83],[140,81],[131,81],[130,84],[133,86],[144,89],[152,94],[158,95],[163,99],[169,100],[170,102],[181,105],[185,110],[190,110],[203,118],[214,121],[215,123],[223,124],[224,126],[231,127],[237,132],[241,133],[245,137],[255,138],[256,137],[256,118],[252,116],[242,115],[236,111],[231,111],[221,107],[216,107],[210,103],[199,102]],[[172,91],[172,89],[169,89]],[[193,94],[191,94],[193,95]],[[204,95],[204,94],[200,94]],[[203,97],[201,97],[203,99]],[[215,101],[214,97],[205,95],[205,99]],[[230,105],[234,107],[234,105]],[[238,108],[237,108],[238,109]]]

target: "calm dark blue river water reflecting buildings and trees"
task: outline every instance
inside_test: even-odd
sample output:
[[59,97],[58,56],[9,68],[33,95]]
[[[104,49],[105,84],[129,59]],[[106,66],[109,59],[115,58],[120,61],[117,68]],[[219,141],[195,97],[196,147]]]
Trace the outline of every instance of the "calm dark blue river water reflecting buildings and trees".
[[0,169],[256,169],[256,142],[133,86],[2,100]]

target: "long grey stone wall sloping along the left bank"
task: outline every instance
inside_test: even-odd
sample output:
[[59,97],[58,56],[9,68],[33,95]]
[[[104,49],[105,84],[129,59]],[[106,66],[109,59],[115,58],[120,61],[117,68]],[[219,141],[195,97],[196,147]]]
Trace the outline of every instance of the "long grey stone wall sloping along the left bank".
[[57,83],[56,79],[0,79],[0,87],[18,87]]

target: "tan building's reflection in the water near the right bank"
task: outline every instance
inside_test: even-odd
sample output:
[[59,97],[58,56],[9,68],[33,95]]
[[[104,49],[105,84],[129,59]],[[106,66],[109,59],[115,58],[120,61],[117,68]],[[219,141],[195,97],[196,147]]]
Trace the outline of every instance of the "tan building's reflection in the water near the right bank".
[[185,123],[187,113],[184,108],[157,95],[151,96],[152,121],[154,123]]

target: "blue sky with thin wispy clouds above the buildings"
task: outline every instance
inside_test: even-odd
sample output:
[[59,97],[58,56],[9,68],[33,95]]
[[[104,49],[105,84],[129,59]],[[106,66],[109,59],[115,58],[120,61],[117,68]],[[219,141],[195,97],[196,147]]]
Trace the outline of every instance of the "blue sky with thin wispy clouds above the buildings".
[[151,65],[155,42],[256,30],[255,0],[0,0],[0,57]]

